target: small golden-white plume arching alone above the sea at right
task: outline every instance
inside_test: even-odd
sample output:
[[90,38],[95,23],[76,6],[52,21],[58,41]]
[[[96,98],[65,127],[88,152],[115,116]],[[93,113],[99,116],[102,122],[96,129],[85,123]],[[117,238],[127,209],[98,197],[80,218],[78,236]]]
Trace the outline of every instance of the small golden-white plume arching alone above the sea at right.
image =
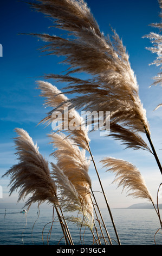
[[138,168],[132,163],[113,157],[105,157],[105,159],[101,160],[101,163],[103,164],[103,167],[107,168],[107,172],[115,174],[113,182],[117,182],[118,187],[122,186],[123,190],[126,188],[128,192],[132,191],[128,196],[148,199],[153,202],[144,178]]

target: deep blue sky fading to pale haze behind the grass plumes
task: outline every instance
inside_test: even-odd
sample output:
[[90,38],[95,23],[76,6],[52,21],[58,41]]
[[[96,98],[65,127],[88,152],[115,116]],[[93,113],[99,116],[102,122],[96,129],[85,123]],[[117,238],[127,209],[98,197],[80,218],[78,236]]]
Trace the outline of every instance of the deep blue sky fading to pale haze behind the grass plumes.
[[[155,66],[148,66],[156,56],[145,49],[151,45],[150,41],[142,39],[142,36],[151,31],[158,32],[148,26],[152,22],[159,21],[158,1],[88,0],[87,3],[99,23],[101,31],[106,35],[109,32],[110,24],[115,28],[127,48],[132,69],[137,75],[140,99],[146,108],[147,119],[150,122],[152,141],[157,149],[159,159],[161,159],[162,110],[158,109],[156,112],[152,112],[158,103],[162,102],[161,88],[148,88],[152,83],[151,78],[157,75],[159,69]],[[47,109],[42,106],[43,99],[38,97],[40,92],[35,89],[35,81],[40,79],[39,76],[51,72],[60,74],[65,68],[58,64],[61,58],[44,56],[37,50],[43,45],[42,41],[29,35],[19,35],[20,33],[60,35],[62,32],[59,30],[49,28],[51,21],[43,14],[31,11],[28,4],[23,1],[3,1],[0,21],[0,44],[3,45],[3,57],[0,57],[0,175],[3,175],[17,162],[12,141],[16,135],[15,127],[27,130],[34,142],[37,142],[40,152],[51,160],[49,154],[52,152],[52,148],[48,144],[49,140],[46,136],[51,131],[51,127],[36,126],[45,117]],[[61,84],[56,84],[56,86],[61,89]],[[121,194],[121,188],[116,190],[116,185],[112,185],[114,176],[105,173],[99,163],[105,156],[113,156],[135,164],[145,177],[147,187],[155,200],[157,188],[161,182],[161,174],[152,155],[142,150],[124,150],[119,142],[102,138],[98,136],[97,132],[91,133],[89,137],[91,139],[90,147],[110,206],[127,207],[145,201],[126,197],[125,192]],[[89,175],[95,189],[100,190],[93,166],[90,166]],[[9,178],[0,179],[0,185],[3,187],[0,207],[1,203],[17,201],[16,194],[8,197],[8,184]],[[98,193],[97,197],[100,198],[101,194]],[[100,198],[100,204],[104,207],[102,198]]]

